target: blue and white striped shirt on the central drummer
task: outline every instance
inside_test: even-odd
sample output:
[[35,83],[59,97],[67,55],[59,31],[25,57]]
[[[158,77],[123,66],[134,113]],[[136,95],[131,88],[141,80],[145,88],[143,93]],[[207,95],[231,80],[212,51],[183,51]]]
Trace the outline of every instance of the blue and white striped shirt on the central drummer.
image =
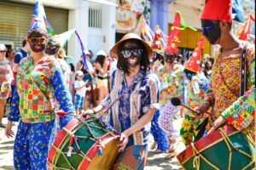
[[[108,107],[126,89],[124,71],[113,71],[111,77],[112,90],[108,97],[102,100],[101,105]],[[119,133],[134,125],[147,111],[152,108],[158,110],[160,98],[160,81],[154,73],[145,73],[140,82],[137,82],[123,95],[110,109],[110,125]],[[145,127],[129,136],[128,144],[143,145],[148,142],[150,132],[149,122]]]

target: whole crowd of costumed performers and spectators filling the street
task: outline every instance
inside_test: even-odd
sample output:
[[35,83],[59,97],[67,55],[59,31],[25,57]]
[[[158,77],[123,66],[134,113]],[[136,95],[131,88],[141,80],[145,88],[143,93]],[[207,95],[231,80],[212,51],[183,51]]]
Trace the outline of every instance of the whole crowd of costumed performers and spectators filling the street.
[[[56,116],[59,110],[83,119],[96,115],[106,128],[120,134],[113,169],[143,169],[149,133],[154,136],[151,149],[169,153],[166,159],[177,156],[178,136],[189,146],[199,135],[202,138],[227,122],[238,130],[247,128],[253,137],[254,44],[245,45],[232,34],[231,14],[227,12],[230,1],[225,1],[226,6],[217,8],[213,16],[210,7],[217,2],[207,1],[201,16],[204,37],[189,60],[177,54],[180,30],[174,27],[165,50],[160,50],[157,39],[148,44],[137,34],[128,33],[109,55],[99,50],[94,56],[85,50],[75,66],[67,63],[65,50],[49,36],[44,17],[35,9],[33,17],[37,19],[32,18],[20,51],[15,53],[0,44],[0,127],[5,127],[8,137],[15,135],[15,168],[47,169],[56,131],[73,120],[73,116]],[[157,31],[155,34],[159,36]],[[214,57],[201,57],[205,37],[220,45]],[[241,92],[243,48],[247,83]],[[173,98],[195,111],[173,104]],[[8,123],[3,125],[7,99],[11,107]],[[176,132],[173,121],[179,117],[183,117],[183,124]],[[16,134],[12,122],[19,122]],[[201,127],[202,122],[209,123]],[[131,157],[135,161],[127,161]]]

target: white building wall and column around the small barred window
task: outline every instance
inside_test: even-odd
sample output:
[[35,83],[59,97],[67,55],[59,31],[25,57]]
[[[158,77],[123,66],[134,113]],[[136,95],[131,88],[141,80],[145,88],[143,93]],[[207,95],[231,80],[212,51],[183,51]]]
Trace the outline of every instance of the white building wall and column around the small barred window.
[[[116,0],[111,0],[116,3]],[[102,31],[89,28],[89,6],[96,5],[102,8]],[[68,14],[68,30],[77,28],[84,42],[84,48],[92,49],[94,54],[103,49],[107,54],[115,42],[115,11],[116,7],[79,0],[75,9],[70,9]],[[99,34],[99,35],[96,35]],[[96,46],[96,47],[95,47]],[[76,36],[71,37],[67,44],[68,55],[73,57],[76,64],[81,55],[81,49]]]

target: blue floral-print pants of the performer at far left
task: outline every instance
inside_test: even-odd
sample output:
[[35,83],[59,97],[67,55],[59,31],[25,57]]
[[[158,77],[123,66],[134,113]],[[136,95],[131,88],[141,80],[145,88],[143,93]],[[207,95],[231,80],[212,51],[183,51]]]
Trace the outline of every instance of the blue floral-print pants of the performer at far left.
[[15,137],[15,169],[47,170],[49,139],[55,120],[51,122],[21,122]]

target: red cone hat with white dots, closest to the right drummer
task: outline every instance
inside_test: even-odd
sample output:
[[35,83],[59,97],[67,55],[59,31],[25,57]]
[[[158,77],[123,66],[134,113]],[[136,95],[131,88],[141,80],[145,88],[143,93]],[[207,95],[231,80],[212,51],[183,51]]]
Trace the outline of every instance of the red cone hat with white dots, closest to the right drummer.
[[187,70],[193,71],[193,72],[199,71],[199,66],[201,63],[201,50],[202,50],[202,47],[204,46],[205,38],[206,37],[204,36],[201,37],[193,54],[190,56],[189,62],[186,66]]

